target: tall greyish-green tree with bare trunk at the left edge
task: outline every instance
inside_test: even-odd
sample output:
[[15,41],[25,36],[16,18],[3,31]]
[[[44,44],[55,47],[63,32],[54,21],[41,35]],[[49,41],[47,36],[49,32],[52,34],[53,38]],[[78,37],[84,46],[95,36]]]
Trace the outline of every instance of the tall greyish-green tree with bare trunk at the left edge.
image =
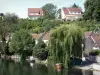
[[17,28],[18,17],[15,14],[7,13],[1,14],[0,17],[0,39],[2,41],[2,52],[8,54],[8,46],[10,42],[11,33]]

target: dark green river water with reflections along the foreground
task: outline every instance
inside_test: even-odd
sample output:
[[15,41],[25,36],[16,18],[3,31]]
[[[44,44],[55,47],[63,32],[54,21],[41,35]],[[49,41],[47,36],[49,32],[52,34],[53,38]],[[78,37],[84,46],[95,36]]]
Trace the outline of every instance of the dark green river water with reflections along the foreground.
[[79,69],[56,71],[41,64],[0,60],[0,75],[100,75],[100,72]]

